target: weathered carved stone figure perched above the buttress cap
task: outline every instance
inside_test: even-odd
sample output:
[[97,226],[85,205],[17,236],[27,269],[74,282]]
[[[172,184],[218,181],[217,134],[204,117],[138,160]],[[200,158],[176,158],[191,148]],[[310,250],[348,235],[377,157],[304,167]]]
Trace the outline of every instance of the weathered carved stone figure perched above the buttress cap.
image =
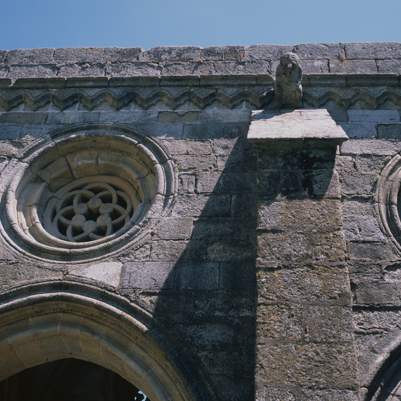
[[294,53],[283,54],[276,70],[274,102],[277,108],[302,107],[301,80],[299,57]]

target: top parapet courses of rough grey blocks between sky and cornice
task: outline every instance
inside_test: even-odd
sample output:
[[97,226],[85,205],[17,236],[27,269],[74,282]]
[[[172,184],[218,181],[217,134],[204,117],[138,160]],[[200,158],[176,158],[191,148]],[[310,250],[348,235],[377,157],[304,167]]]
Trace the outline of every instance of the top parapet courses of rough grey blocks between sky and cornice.
[[400,74],[401,45],[385,42],[0,50],[0,78],[274,75],[288,52],[298,55],[304,74]]

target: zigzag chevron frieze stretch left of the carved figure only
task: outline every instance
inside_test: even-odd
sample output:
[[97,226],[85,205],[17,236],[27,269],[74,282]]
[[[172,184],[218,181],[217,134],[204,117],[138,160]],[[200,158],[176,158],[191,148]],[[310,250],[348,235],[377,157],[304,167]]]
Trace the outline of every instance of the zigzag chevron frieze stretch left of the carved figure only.
[[120,110],[134,105],[136,108],[147,110],[158,103],[175,110],[187,103],[204,109],[218,103],[228,109],[239,107],[246,102],[250,108],[266,108],[273,101],[272,87],[244,88],[208,88],[193,89],[179,88],[130,90],[9,90],[0,92],[0,111],[10,111],[24,105],[28,110],[37,111],[48,105],[63,111],[77,105],[87,110],[99,108],[107,103],[110,109]]

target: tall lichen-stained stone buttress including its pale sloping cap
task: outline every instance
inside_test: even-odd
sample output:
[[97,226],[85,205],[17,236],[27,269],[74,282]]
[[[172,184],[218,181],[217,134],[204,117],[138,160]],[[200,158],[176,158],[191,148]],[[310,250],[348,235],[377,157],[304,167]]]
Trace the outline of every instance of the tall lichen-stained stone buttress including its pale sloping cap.
[[[321,386],[347,388],[352,390],[347,399],[356,400],[346,244],[334,168],[336,146],[346,135],[322,110],[272,114],[255,113],[248,133],[258,150],[256,399],[274,399],[272,392],[288,382],[300,394]],[[344,398],[338,391],[331,399]]]

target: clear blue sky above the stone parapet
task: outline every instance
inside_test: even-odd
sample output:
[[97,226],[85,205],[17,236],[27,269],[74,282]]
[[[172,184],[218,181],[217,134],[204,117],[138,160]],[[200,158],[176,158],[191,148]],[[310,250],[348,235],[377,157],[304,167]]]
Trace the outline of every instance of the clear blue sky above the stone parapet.
[[0,49],[401,42],[401,0],[0,0]]

